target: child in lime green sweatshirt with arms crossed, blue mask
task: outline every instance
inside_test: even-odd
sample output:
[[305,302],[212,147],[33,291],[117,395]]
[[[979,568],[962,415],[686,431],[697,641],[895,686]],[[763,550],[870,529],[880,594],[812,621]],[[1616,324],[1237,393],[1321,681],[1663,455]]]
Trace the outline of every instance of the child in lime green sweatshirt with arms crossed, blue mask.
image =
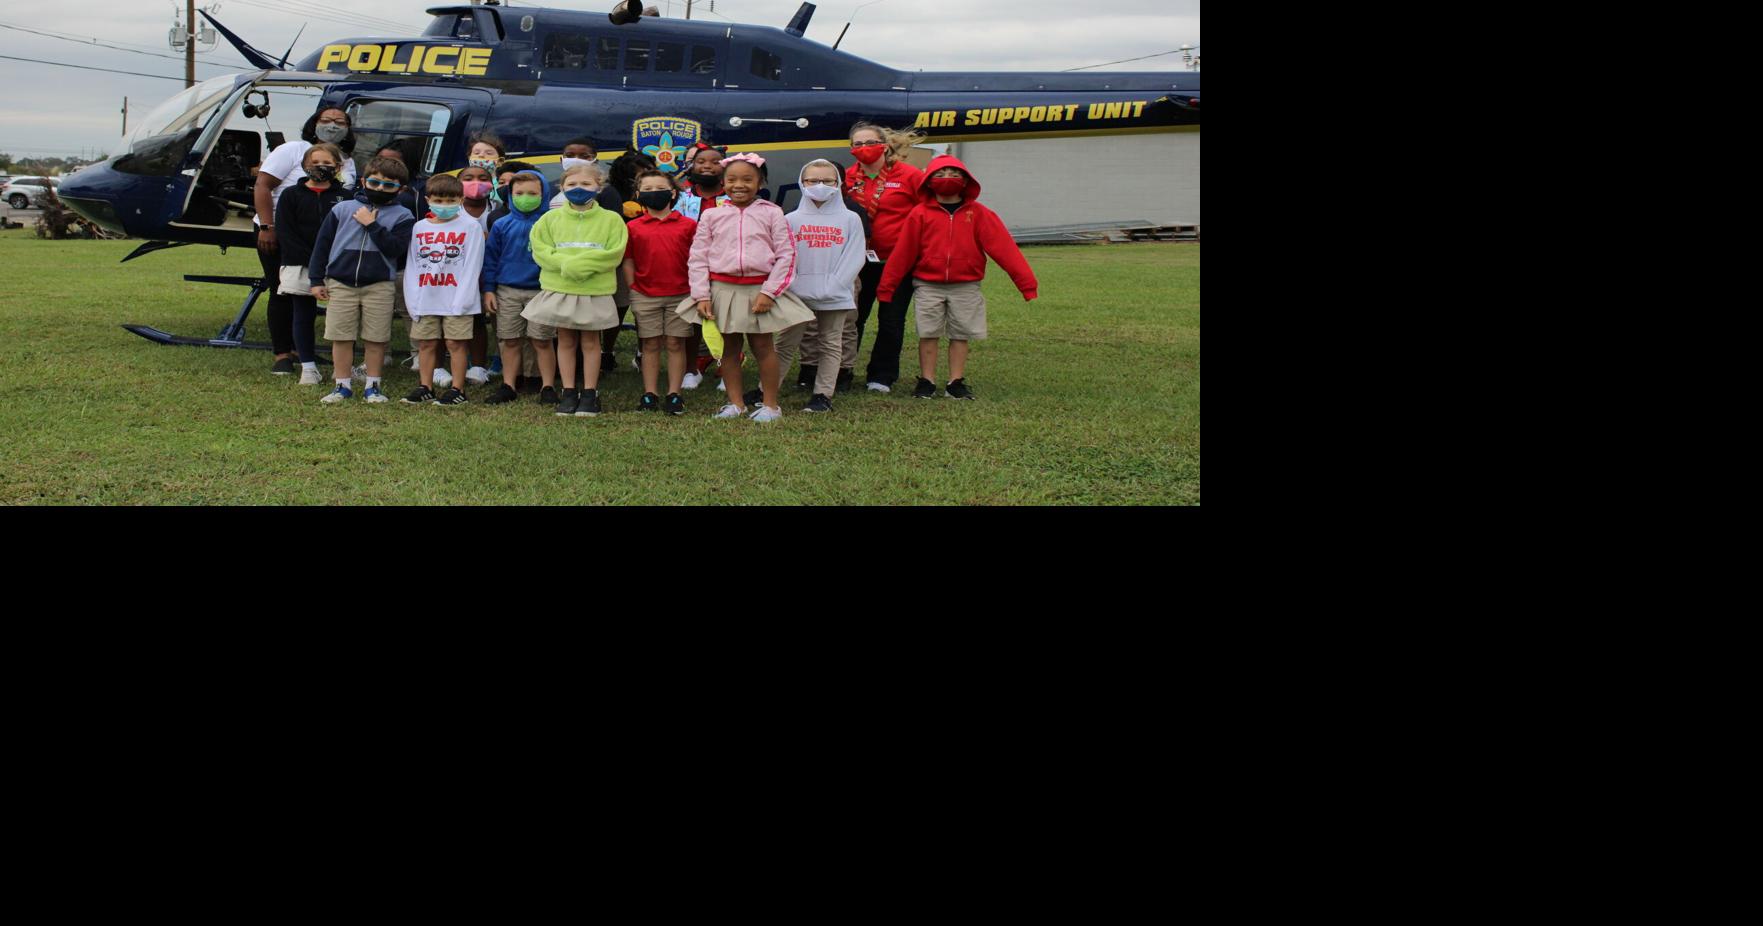
[[[564,206],[532,224],[529,242],[539,265],[539,295],[520,312],[527,321],[557,328],[557,372],[562,400],[555,414],[599,414],[599,332],[619,323],[612,295],[629,233],[624,217],[594,205],[605,183],[598,164],[577,164],[562,175]],[[577,386],[582,351],[582,386]]]

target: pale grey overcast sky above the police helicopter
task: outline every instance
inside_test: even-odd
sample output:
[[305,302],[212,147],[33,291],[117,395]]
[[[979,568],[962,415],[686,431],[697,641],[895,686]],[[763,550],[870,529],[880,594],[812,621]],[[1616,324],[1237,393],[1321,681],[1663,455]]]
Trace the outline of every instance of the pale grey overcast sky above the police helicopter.
[[[684,16],[684,0],[647,0],[663,14]],[[197,0],[213,5],[215,0]],[[344,37],[418,35],[428,23],[423,12],[439,0],[377,0],[374,4],[326,4],[324,0],[220,0],[215,18],[250,44],[280,55],[294,34],[293,60]],[[606,11],[612,0],[515,2],[513,7],[562,7]],[[728,19],[783,26],[800,0],[695,0],[693,19]],[[852,19],[859,0],[818,4],[807,37],[832,44]],[[78,4],[0,4],[0,152],[12,157],[67,157],[120,152],[122,99],[129,97],[130,127],[153,106],[183,88],[183,56],[166,42],[182,0],[81,0]],[[1097,9],[1097,12],[1090,12]],[[363,11],[363,12],[349,12]],[[367,12],[372,11],[372,12]],[[44,16],[44,12],[55,12]],[[23,26],[74,41],[19,32]],[[95,48],[106,44],[166,55]],[[857,12],[839,46],[890,67],[922,71],[1063,71],[1118,58],[1135,58],[1201,44],[1199,0],[880,0]],[[16,62],[41,58],[88,67],[157,74],[104,74]],[[226,67],[236,65],[236,67]],[[245,62],[222,39],[212,51],[197,53],[196,79],[238,74]],[[1097,71],[1179,71],[1181,55],[1120,63]],[[287,101],[272,125],[298,120],[310,108]]]

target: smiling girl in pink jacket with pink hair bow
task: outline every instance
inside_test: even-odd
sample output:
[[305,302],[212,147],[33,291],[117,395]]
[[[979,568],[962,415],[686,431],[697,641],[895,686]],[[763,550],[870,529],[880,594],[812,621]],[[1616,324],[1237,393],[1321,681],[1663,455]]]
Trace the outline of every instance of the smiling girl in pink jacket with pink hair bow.
[[786,289],[795,280],[795,240],[783,210],[758,198],[765,182],[765,159],[756,153],[730,155],[723,161],[723,187],[728,205],[718,206],[698,222],[691,240],[688,279],[693,303],[700,317],[714,317],[723,333],[723,385],[728,404],[716,418],[742,418],[748,414],[740,392],[742,340],[753,344],[760,362],[762,402],[753,411],[755,422],[783,418],[777,407],[777,351],[774,335],[792,325],[815,317],[802,302]]

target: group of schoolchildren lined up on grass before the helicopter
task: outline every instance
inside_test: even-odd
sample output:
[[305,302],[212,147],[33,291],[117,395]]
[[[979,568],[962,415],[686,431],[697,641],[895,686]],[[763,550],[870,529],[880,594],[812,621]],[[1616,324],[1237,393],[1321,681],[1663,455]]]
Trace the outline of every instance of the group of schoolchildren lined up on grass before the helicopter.
[[[605,168],[591,159],[566,157],[561,189],[552,190],[538,169],[504,168],[494,139],[476,141],[458,176],[434,175],[414,190],[405,162],[384,153],[367,164],[349,196],[338,185],[344,153],[312,145],[301,162],[305,180],[277,201],[282,291],[296,296],[296,312],[328,302],[324,339],[335,388],[323,402],[354,397],[356,339],[367,344],[363,399],[388,400],[381,383],[402,302],[420,374],[405,404],[467,404],[464,386],[488,381],[483,360],[474,358],[485,351],[481,332],[494,328],[504,381],[490,404],[518,399],[515,374],[531,344],[543,383],[539,404],[555,406],[559,416],[598,416],[601,332],[615,332],[629,309],[642,344],[638,411],[684,414],[681,390],[695,385],[696,325],[707,339],[714,325],[728,360],[719,365],[728,399],[716,418],[781,418],[781,376],[799,351],[804,377],[813,379],[804,411],[832,409],[841,358],[855,353],[844,340],[859,275],[874,254],[866,217],[848,206],[844,175],[830,161],[802,168],[802,205],[785,215],[758,196],[767,171],[756,153],[723,157],[700,146],[688,173],[695,183],[684,190],[672,176],[636,166],[635,196],[628,185],[624,196],[612,196],[617,210],[603,196]],[[1003,222],[977,203],[980,185],[959,161],[933,161],[917,192],[878,296],[890,300],[911,275],[924,372],[915,395],[934,395],[922,386],[947,337],[948,395],[970,399],[964,386],[957,395],[957,381],[968,340],[986,337],[978,291],[986,258],[1028,300],[1037,282]],[[753,392],[742,390],[744,351],[758,363]],[[307,356],[310,349],[301,349],[301,383],[319,383]]]

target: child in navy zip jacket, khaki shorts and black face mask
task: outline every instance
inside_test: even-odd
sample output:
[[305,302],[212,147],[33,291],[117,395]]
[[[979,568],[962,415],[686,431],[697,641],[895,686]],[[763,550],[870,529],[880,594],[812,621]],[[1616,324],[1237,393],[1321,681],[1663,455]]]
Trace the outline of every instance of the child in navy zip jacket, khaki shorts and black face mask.
[[416,217],[397,203],[398,190],[409,183],[411,173],[390,157],[376,157],[367,166],[361,190],[354,199],[337,203],[312,243],[312,261],[307,265],[312,296],[330,302],[324,310],[324,340],[331,342],[337,390],[321,399],[333,404],[354,397],[351,392],[351,365],[354,339],[367,340],[368,402],[384,402],[379,390],[381,367],[386,362],[386,342],[391,340],[391,293],[397,289],[398,268],[411,247],[411,228]]

